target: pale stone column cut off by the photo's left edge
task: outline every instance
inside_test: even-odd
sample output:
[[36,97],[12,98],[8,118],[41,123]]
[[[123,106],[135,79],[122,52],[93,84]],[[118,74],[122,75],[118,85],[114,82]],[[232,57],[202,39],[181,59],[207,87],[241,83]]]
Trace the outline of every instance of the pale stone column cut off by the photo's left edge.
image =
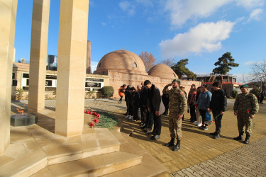
[[10,142],[13,50],[18,0],[0,1],[0,156]]

